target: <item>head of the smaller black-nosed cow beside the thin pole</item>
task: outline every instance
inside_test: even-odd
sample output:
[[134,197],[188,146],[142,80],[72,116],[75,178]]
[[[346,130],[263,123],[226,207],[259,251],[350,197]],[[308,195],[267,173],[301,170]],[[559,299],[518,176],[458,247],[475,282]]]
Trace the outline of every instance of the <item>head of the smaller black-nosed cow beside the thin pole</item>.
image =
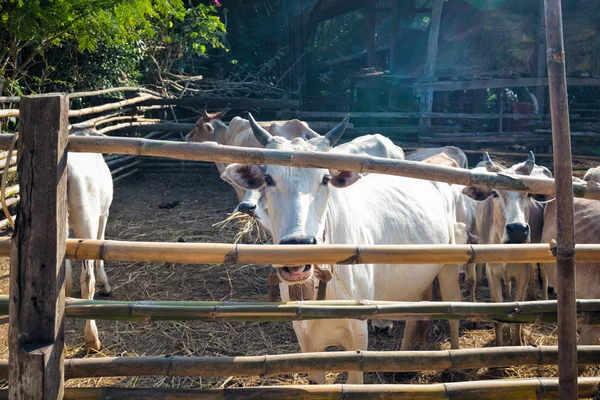
[[[525,162],[515,164],[510,168],[494,163],[489,154],[485,153],[483,167],[475,168],[474,171],[476,170],[504,175],[552,178],[552,173],[548,168],[535,165],[535,157],[532,152],[529,152],[529,157]],[[502,243],[529,243],[531,229],[528,221],[531,198],[546,200],[545,196],[533,195],[527,192],[469,186],[463,189],[463,193],[478,201],[492,197],[494,231]]]

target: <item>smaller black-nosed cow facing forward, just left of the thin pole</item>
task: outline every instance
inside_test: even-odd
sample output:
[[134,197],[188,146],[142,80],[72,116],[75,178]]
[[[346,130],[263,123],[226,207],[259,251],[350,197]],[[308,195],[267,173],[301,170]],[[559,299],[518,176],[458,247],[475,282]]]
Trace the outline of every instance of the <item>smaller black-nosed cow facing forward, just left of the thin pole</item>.
[[[535,157],[529,153],[527,161],[505,168],[495,164],[488,153],[483,157],[483,167],[475,168],[477,172],[496,172],[504,175],[523,175],[549,178],[551,172],[535,165]],[[491,188],[466,187],[463,192],[480,201],[477,206],[477,229],[480,244],[530,243],[532,229],[529,224],[531,204],[535,201],[525,192],[499,190]],[[503,301],[502,281],[510,293],[510,280],[515,278],[517,290],[515,301],[525,300],[531,271],[535,264],[501,264],[487,263],[486,274],[492,300]],[[535,288],[535,287],[534,287]],[[507,294],[505,293],[505,295]],[[506,297],[506,296],[504,296]],[[502,346],[502,326],[496,323],[496,345]],[[515,324],[513,345],[521,344],[521,325]]]

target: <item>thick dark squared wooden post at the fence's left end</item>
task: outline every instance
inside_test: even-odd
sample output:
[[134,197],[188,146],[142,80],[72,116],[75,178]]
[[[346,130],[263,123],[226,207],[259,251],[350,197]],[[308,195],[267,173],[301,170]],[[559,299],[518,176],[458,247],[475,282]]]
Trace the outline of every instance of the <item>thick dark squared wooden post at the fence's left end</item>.
[[69,103],[25,96],[19,112],[21,203],[10,254],[11,399],[62,399]]

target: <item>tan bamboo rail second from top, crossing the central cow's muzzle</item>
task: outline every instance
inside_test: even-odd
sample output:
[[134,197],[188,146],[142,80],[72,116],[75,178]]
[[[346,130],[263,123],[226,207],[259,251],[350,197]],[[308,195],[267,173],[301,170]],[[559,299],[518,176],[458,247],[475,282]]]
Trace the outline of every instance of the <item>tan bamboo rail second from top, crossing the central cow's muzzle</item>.
[[[11,239],[0,238],[8,257]],[[577,259],[600,261],[600,244],[576,246]],[[182,264],[467,264],[555,262],[547,244],[481,245],[251,245],[67,239],[72,260]]]

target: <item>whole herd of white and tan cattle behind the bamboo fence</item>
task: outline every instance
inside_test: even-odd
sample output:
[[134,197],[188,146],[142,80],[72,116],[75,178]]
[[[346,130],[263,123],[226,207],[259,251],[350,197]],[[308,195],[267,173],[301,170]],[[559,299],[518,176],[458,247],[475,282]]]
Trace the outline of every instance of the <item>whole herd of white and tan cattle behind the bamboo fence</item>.
[[[274,121],[257,123],[252,115],[222,122],[226,111],[208,114],[198,120],[186,136],[189,142],[217,142],[223,145],[264,147],[286,151],[333,152],[427,162],[454,168],[468,168],[467,157],[458,148],[423,149],[405,156],[389,139],[365,135],[336,145],[344,134],[348,117],[326,135],[319,135],[307,123]],[[93,135],[94,131],[73,134]],[[555,202],[532,193],[490,188],[465,187],[441,182],[352,171],[298,168],[275,165],[220,164],[221,178],[235,189],[237,212],[256,218],[273,243],[286,244],[511,244],[548,243],[556,237]],[[495,172],[551,178],[551,172],[535,164],[533,153],[518,164],[505,167],[489,155],[476,167],[478,172]],[[577,179],[577,178],[573,178]],[[584,177],[588,185],[600,185],[600,167]],[[112,201],[112,179],[100,155],[69,153],[69,225],[77,238],[103,239],[108,209]],[[598,242],[600,203],[575,199],[577,243]],[[250,238],[246,238],[249,240]],[[594,263],[577,264],[577,298],[600,298],[600,268]],[[373,265],[314,266],[280,265],[276,269],[281,299],[290,300],[293,285],[322,282],[313,275],[331,271],[327,300],[421,301],[433,298],[437,278],[445,301],[462,301],[460,283],[468,283],[475,301],[479,276],[484,265]],[[94,270],[95,269],[95,270]],[[556,287],[556,265],[485,265],[492,300],[501,302],[511,293],[515,279],[515,300],[536,299],[537,271],[542,296],[548,298],[549,285]],[[71,293],[70,267],[67,295]],[[96,278],[97,276],[97,278]],[[312,283],[311,283],[312,282]],[[101,260],[85,261],[81,273],[82,296],[91,299],[96,286],[110,292]],[[316,287],[310,293],[318,292]],[[374,320],[375,329],[386,329],[390,321]],[[406,322],[401,349],[411,349],[423,341],[422,324]],[[354,319],[306,320],[293,322],[303,352],[324,351],[329,346],[346,350],[367,349],[367,321]],[[514,325],[512,344],[521,343],[521,330]],[[502,324],[497,323],[496,345],[503,344]],[[451,346],[459,347],[458,321],[450,322]],[[84,338],[91,348],[100,341],[94,321],[87,321]],[[580,344],[596,344],[600,331],[583,327]],[[325,383],[324,373],[313,373],[311,381]],[[349,372],[348,383],[362,383],[362,372]]]

